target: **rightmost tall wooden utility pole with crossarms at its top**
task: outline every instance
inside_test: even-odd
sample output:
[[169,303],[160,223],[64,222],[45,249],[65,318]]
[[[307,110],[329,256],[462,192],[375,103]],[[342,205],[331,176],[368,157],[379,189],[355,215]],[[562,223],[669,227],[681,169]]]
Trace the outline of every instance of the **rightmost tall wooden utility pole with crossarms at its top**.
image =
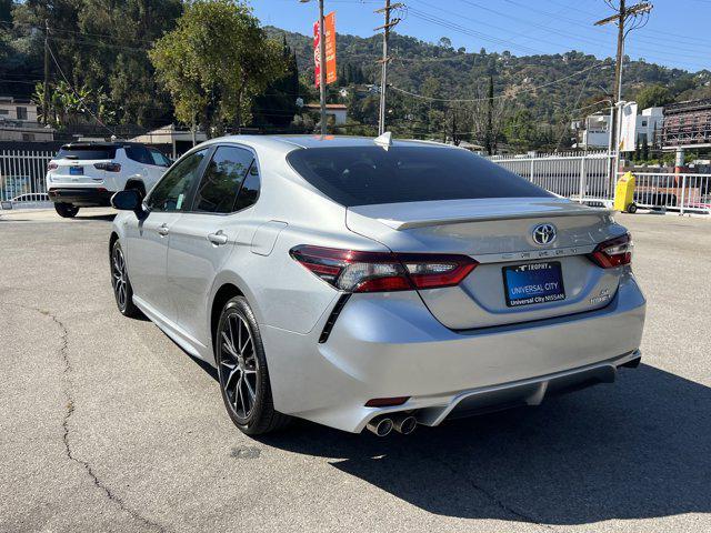
[[[620,135],[622,131],[622,60],[624,58],[624,39],[627,34],[643,26],[645,21],[638,20],[638,17],[649,14],[653,6],[651,2],[640,2],[634,6],[627,7],[624,0],[620,0],[618,12],[612,17],[595,22],[594,26],[605,26],[611,22],[618,24],[618,53],[614,64],[614,86],[613,86],[613,109],[612,123],[610,124],[610,147],[614,149],[614,158],[611,158],[610,169],[610,187],[613,188],[617,181],[617,173],[620,168]],[[628,19],[633,19],[632,24],[625,30],[624,23]],[[638,20],[639,23],[634,23]]]

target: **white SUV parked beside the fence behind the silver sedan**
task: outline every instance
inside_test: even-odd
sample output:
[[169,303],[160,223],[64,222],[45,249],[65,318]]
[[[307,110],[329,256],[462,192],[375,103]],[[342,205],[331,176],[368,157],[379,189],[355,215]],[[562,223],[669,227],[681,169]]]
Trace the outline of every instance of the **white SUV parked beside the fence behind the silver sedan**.
[[160,151],[134,142],[64,144],[47,165],[47,193],[59,215],[70,218],[80,207],[110,205],[124,189],[144,197],[170,164]]

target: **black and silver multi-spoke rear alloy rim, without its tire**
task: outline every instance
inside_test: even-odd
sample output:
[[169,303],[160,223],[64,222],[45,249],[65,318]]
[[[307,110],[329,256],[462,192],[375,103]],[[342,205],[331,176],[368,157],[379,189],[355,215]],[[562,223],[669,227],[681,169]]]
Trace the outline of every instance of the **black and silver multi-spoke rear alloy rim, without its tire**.
[[259,361],[247,321],[237,312],[222,321],[220,335],[220,383],[230,409],[247,422],[257,401]]

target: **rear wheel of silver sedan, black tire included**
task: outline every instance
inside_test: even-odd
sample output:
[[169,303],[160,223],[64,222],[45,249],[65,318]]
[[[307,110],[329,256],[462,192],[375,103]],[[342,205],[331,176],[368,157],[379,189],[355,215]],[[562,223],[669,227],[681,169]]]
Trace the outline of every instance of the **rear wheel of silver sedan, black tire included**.
[[236,296],[224,304],[214,339],[220,392],[234,425],[247,435],[288,425],[291,418],[274,410],[264,346],[247,299]]

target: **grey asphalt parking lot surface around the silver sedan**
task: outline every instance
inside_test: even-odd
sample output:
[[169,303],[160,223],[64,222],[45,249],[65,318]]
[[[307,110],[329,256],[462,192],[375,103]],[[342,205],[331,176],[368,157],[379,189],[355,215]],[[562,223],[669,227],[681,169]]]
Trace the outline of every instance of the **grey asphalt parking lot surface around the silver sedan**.
[[0,532],[711,531],[711,220],[620,215],[643,364],[377,439],[242,435],[216,374],[116,310],[111,212],[0,212]]

